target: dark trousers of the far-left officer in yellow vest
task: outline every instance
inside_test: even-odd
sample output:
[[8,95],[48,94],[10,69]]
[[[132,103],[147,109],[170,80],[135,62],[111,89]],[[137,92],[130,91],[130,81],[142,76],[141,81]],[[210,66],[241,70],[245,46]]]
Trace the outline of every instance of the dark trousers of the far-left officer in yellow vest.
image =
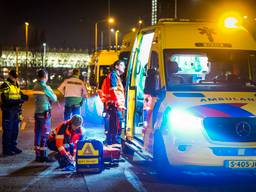
[[2,127],[3,127],[3,152],[12,151],[16,148],[17,138],[19,134],[20,109],[11,108],[2,111]]

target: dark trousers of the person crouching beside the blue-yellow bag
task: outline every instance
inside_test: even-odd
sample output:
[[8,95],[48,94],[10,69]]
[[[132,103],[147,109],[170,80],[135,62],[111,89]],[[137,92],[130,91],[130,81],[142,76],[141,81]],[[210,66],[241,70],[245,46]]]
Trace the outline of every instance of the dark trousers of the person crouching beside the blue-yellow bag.
[[[52,151],[56,151],[58,152],[58,154],[55,156],[56,159],[58,160],[58,163],[60,165],[61,168],[66,167],[68,165],[71,165],[71,162],[69,161],[69,159],[64,156],[61,155],[56,147],[56,142],[55,140],[48,140],[47,141],[47,146],[50,150]],[[67,145],[65,146],[66,151],[68,151],[71,155],[74,154],[74,145]]]

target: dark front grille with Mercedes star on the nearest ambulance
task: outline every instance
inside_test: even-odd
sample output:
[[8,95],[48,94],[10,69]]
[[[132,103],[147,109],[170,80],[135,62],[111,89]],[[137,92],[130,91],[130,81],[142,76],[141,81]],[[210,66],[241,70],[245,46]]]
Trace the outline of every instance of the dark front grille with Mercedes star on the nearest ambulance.
[[203,121],[208,137],[220,142],[256,142],[256,118],[208,117]]

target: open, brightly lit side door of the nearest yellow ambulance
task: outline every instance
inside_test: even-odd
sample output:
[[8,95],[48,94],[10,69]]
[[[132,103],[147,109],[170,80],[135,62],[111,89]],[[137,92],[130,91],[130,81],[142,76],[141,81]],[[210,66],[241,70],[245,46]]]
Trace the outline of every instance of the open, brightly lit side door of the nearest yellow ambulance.
[[141,122],[144,102],[144,84],[146,78],[146,67],[149,62],[154,31],[141,32],[137,35],[134,43],[127,76],[127,113],[126,113],[126,136],[143,142]]

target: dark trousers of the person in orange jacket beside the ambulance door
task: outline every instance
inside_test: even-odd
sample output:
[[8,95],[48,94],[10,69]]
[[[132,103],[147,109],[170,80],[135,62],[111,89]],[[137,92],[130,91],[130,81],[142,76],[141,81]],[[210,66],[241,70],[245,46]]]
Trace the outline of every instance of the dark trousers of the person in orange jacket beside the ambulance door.
[[121,133],[123,125],[123,115],[115,106],[110,105],[109,113],[109,127],[107,131],[106,142],[108,145],[121,144]]

